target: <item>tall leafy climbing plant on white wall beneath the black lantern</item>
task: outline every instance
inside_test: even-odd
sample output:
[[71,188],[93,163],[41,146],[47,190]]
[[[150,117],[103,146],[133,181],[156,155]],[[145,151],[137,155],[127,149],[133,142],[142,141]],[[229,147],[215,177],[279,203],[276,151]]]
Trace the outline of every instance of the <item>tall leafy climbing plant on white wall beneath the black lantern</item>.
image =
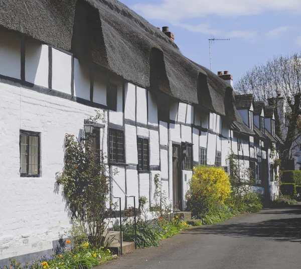
[[[95,123],[101,119],[97,112],[90,117]],[[106,229],[108,210],[109,177],[104,173],[103,158],[92,146],[91,139],[78,141],[73,135],[65,136],[65,165],[57,174],[56,183],[63,187],[72,219],[80,221],[90,243],[100,246]]]

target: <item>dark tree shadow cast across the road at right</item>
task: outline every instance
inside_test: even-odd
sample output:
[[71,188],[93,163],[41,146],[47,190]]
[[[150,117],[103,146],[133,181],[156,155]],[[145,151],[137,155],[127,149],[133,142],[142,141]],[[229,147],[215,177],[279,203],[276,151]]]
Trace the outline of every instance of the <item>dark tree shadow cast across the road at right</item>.
[[[201,226],[189,231],[195,234],[216,234],[234,237],[253,236],[267,237],[277,241],[301,242],[301,205],[285,209],[267,209],[258,215],[268,214],[270,218],[258,222],[221,223],[218,225]],[[281,214],[283,216],[281,216]],[[291,217],[292,214],[299,217]],[[275,215],[275,216],[272,216]],[[287,215],[287,218],[285,218]],[[255,215],[254,215],[255,217]],[[262,216],[263,217],[263,216]]]

